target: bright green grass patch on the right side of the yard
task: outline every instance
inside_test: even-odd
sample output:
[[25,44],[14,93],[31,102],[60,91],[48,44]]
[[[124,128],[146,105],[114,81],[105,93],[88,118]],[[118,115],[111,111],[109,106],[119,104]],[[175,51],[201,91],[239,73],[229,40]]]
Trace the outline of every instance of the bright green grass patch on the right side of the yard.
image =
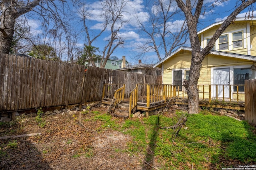
[[173,169],[192,169],[193,164],[194,169],[204,170],[209,169],[209,162],[218,169],[224,166],[223,159],[256,162],[255,129],[245,121],[204,111],[188,115],[186,128],[176,138],[172,138],[173,129],[158,127],[175,125],[182,115],[184,112],[177,112],[172,118],[161,115],[159,122],[157,115],[144,118],[144,123],[126,120],[122,130],[133,137],[128,150],[145,154],[149,162],[156,156],[158,162],[166,162],[164,166]]

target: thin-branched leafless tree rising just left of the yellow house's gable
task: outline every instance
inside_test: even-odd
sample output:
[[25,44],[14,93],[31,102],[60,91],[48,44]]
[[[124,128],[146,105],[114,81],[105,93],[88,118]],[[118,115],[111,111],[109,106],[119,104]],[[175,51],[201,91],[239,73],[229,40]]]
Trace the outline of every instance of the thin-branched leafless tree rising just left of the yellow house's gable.
[[[172,18],[180,15],[180,10],[174,0],[150,0],[148,5],[149,21],[144,22],[137,16],[140,31],[146,35],[146,41],[138,47],[144,53],[154,51],[160,61],[172,51],[186,43],[188,32],[186,20],[172,22]],[[164,56],[162,55],[164,51]]]

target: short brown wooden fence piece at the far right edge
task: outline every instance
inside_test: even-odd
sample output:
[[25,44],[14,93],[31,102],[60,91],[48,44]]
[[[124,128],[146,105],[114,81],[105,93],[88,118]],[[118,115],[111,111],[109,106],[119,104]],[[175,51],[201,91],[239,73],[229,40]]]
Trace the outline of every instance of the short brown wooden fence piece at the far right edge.
[[245,116],[249,123],[256,124],[256,79],[245,80]]

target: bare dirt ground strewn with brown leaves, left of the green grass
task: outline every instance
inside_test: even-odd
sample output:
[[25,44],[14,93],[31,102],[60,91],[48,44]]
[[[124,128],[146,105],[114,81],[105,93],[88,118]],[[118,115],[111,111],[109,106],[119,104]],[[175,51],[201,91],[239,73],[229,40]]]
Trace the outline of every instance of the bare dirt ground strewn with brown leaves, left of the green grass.
[[[106,112],[102,107],[94,109]],[[81,120],[92,117],[93,113],[81,114]],[[108,128],[98,131],[103,123],[99,120],[80,123],[80,111],[45,115],[42,119],[44,127],[28,115],[17,117],[13,125],[1,126],[0,136],[41,133],[0,140],[1,170],[146,170],[159,166],[154,162],[149,166],[142,161],[144,155],[138,158],[126,150],[131,136]],[[122,123],[121,119],[112,119]]]

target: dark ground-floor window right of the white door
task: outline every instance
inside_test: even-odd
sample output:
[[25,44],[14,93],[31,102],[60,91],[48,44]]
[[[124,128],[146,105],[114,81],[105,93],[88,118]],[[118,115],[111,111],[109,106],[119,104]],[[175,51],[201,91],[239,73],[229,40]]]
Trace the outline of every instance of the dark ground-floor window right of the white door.
[[[234,68],[234,85],[244,84],[244,80],[252,79],[252,71],[250,68]],[[234,92],[236,92],[234,86]],[[238,92],[244,92],[244,86],[238,86]]]

